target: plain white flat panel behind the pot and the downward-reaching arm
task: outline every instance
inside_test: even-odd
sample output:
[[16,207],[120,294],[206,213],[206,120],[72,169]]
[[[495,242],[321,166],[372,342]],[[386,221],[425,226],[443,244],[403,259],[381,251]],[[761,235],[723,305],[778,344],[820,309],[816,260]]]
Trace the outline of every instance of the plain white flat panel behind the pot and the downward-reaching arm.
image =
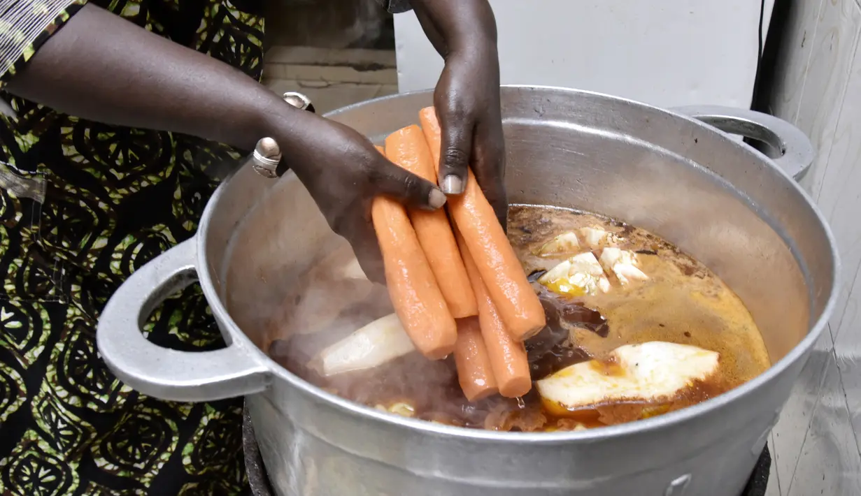
[[[663,107],[749,107],[759,0],[491,0],[502,83],[589,89]],[[766,19],[774,0],[766,0]],[[415,15],[395,15],[401,92],[443,61]]]

